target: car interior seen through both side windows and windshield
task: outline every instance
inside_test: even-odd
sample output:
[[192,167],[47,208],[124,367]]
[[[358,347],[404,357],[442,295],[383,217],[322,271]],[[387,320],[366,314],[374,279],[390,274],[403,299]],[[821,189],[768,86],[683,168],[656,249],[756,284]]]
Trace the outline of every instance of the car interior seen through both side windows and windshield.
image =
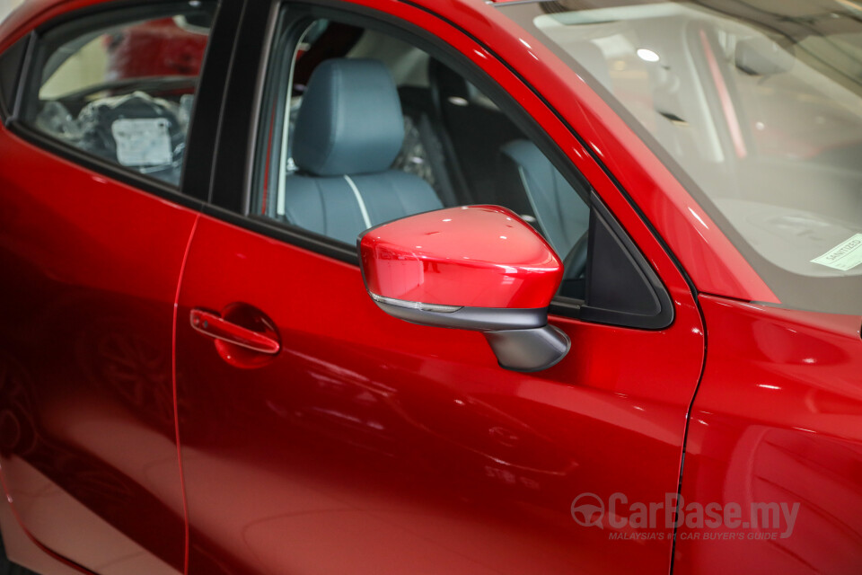
[[[48,31],[38,98],[25,105],[25,119],[178,186],[207,5]],[[365,229],[399,217],[501,205],[564,260],[560,295],[585,299],[590,190],[577,174],[561,173],[480,82],[423,49],[343,22],[298,23],[271,50],[249,216],[352,246]],[[811,260],[853,236],[862,207],[858,142],[840,139],[842,126],[859,121],[845,88],[787,64],[787,52],[762,34],[682,5],[542,13],[534,24],[673,156],[706,192],[704,204],[717,206],[714,219],[729,219],[781,269],[839,273]],[[137,57],[146,53],[139,42],[156,37],[170,57]],[[774,93],[796,107],[772,110]],[[720,102],[734,103],[740,121],[718,113]],[[805,147],[796,133],[817,141]]]

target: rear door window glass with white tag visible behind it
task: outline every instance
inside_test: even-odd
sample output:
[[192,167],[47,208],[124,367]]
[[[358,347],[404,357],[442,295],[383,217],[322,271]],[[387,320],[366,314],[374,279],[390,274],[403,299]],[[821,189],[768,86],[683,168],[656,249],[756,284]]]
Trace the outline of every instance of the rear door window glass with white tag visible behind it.
[[40,40],[24,121],[137,173],[179,185],[215,4],[66,22]]

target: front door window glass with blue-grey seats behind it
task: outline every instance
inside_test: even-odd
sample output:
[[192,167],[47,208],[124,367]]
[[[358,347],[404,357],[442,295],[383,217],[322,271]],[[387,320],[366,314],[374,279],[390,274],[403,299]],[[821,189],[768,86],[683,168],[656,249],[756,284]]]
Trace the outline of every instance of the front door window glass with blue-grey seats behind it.
[[252,215],[353,245],[365,229],[419,212],[505,206],[568,259],[561,295],[583,298],[588,190],[491,98],[379,31],[313,20],[276,42]]

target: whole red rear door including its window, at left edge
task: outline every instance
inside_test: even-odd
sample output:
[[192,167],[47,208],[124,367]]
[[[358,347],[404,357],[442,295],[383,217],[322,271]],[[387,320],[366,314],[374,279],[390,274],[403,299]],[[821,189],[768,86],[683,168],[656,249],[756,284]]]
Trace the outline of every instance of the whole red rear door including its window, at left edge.
[[[204,144],[194,146],[189,119],[178,114],[200,70],[119,83],[102,75],[110,40],[134,33],[137,22],[198,22],[206,43],[216,4],[90,7],[57,22],[31,20],[28,10],[4,33],[13,40],[15,23],[39,26],[38,38],[4,52],[4,72],[20,47],[33,55],[17,102],[4,84],[0,128],[4,490],[42,551],[94,572],[180,573],[186,528],[172,332],[200,202],[181,193],[179,178],[184,159],[208,173],[211,153],[201,149],[206,120]],[[170,58],[170,46],[162,48],[138,57]],[[218,76],[199,86],[206,92]],[[124,125],[131,128],[120,133]],[[187,144],[202,162],[188,164]],[[7,544],[18,528],[4,522]],[[40,561],[7,549],[16,561]]]

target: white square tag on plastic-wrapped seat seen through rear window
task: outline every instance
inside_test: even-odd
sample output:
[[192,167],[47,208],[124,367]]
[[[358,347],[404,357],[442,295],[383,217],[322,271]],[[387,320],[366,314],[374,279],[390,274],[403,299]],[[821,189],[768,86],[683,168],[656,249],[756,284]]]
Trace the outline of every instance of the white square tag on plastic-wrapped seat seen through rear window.
[[123,165],[171,164],[171,134],[166,118],[118,119],[110,125]]

